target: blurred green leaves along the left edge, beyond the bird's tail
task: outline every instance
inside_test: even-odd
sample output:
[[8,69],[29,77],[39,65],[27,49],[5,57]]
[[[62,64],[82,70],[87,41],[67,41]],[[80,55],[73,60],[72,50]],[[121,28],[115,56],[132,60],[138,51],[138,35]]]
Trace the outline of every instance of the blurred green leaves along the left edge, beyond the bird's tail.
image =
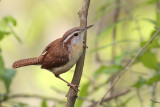
[[[0,21],[0,41],[4,39],[4,37],[8,35],[14,35],[18,41],[20,41],[19,37],[15,35],[16,33],[11,29],[11,26],[14,27],[17,25],[16,20],[11,16],[6,16]],[[1,50],[1,48],[0,48]],[[10,86],[12,83],[12,80],[16,74],[16,71],[11,68],[6,68],[4,59],[2,57],[2,50],[0,51],[0,80],[4,83],[6,92],[0,93],[0,100],[7,100],[8,95],[10,94]],[[18,105],[21,105],[21,107],[24,107],[22,103],[19,103]],[[14,105],[14,107],[17,107],[17,105]]]

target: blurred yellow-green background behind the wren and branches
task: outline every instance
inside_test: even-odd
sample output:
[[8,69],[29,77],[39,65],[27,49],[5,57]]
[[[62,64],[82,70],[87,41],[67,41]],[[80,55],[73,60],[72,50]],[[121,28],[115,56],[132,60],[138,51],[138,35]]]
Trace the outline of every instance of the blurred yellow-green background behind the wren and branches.
[[[0,106],[64,107],[69,87],[40,66],[11,69],[36,57],[70,28],[79,26],[83,0],[1,0]],[[91,0],[86,59],[75,107],[94,107],[138,50],[160,27],[159,0]],[[116,84],[102,107],[159,107],[160,37]],[[74,68],[61,76],[71,81]],[[119,95],[119,93],[124,93]],[[17,96],[16,96],[17,95]],[[29,96],[29,98],[25,98]],[[37,96],[38,95],[38,96]],[[13,98],[14,97],[14,98]],[[36,98],[35,98],[36,97]],[[53,98],[49,100],[48,98]],[[154,99],[157,103],[150,101]]]

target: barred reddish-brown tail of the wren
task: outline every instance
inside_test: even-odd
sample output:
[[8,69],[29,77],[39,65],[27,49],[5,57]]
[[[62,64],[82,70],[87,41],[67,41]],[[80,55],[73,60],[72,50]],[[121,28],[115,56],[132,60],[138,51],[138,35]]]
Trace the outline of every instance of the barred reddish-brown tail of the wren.
[[28,58],[28,59],[22,59],[15,61],[12,65],[12,68],[19,68],[23,66],[28,66],[28,65],[40,65],[42,64],[43,61],[43,56],[36,57],[36,58]]

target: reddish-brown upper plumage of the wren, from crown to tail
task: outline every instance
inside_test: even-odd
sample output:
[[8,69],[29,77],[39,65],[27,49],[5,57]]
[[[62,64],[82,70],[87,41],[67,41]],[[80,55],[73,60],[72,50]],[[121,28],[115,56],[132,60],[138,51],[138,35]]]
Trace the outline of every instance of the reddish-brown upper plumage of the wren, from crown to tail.
[[[65,65],[69,61],[68,49],[67,46],[62,48],[62,42],[68,35],[78,30],[81,30],[81,27],[70,29],[63,35],[62,38],[51,42],[39,57],[18,60],[13,63],[12,68],[19,68],[29,65],[41,65],[41,68],[50,70],[52,68]],[[71,42],[70,39],[67,43],[69,44],[69,42]]]

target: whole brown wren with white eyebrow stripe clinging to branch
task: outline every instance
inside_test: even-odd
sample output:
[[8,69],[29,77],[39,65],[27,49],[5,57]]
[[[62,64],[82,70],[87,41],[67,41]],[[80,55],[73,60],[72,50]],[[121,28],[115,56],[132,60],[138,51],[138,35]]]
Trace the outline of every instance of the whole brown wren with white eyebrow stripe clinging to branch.
[[54,75],[66,82],[75,91],[78,86],[68,83],[59,75],[70,70],[78,61],[83,53],[84,44],[83,37],[85,31],[93,25],[87,27],[75,27],[68,30],[62,38],[51,42],[39,57],[18,60],[13,63],[13,68],[19,68],[29,65],[41,65],[42,69],[47,69]]

